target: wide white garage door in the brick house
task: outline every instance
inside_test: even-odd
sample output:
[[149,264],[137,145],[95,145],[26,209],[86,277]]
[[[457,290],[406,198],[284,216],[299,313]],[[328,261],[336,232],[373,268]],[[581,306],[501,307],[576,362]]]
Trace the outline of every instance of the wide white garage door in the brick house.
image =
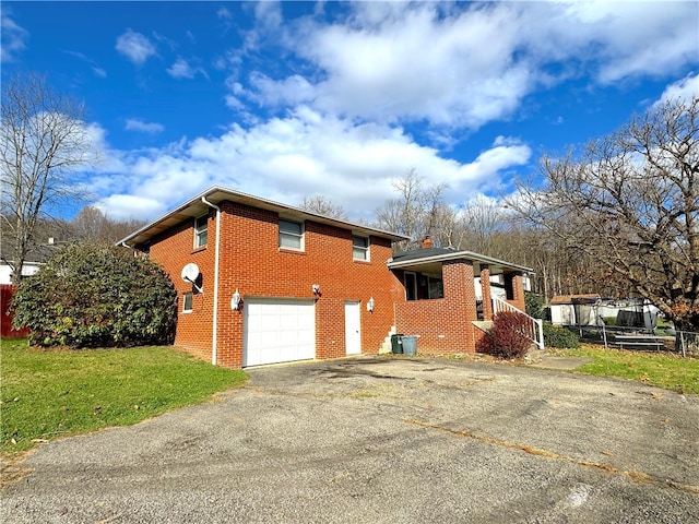
[[316,358],[316,305],[312,300],[248,299],[242,366]]

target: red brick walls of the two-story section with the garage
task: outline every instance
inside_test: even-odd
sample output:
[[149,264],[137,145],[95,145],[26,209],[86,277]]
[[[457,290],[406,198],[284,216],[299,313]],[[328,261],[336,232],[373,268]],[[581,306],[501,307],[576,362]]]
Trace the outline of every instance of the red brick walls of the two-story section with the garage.
[[[279,248],[279,216],[274,212],[223,202],[221,204],[220,296],[217,362],[242,366],[244,311],[230,309],[236,288],[245,300],[252,297],[313,298],[312,285],[320,284],[316,302],[316,355],[345,355],[344,302],[362,301],[362,347],[376,354],[393,325],[393,303],[402,299],[399,281],[387,269],[391,258],[389,240],[371,237],[370,262],[352,258],[352,231],[306,222],[303,252]],[[185,264],[194,262],[203,275],[203,295],[196,295],[193,311],[179,306],[175,343],[211,360],[214,296],[215,212],[209,214],[208,246],[193,250],[193,219],[168,231],[151,247],[151,258],[170,274],[181,296],[191,285],[180,278]],[[375,310],[366,310],[374,297]]]

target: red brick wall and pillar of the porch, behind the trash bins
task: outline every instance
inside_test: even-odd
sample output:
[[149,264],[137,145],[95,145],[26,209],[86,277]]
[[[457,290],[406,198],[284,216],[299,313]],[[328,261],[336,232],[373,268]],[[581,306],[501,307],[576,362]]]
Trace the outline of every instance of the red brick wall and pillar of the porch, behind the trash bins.
[[418,354],[475,352],[472,321],[476,320],[477,313],[473,278],[471,262],[445,262],[445,298],[396,303],[396,330],[405,335],[419,335]]

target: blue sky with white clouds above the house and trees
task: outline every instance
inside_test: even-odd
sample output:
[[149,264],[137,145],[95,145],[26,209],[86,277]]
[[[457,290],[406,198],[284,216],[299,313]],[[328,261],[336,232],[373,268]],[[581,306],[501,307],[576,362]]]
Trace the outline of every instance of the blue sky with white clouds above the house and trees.
[[413,168],[450,204],[498,198],[544,151],[699,93],[696,1],[1,9],[2,81],[46,73],[84,102],[102,162],[75,179],[115,218],[216,183],[370,221]]

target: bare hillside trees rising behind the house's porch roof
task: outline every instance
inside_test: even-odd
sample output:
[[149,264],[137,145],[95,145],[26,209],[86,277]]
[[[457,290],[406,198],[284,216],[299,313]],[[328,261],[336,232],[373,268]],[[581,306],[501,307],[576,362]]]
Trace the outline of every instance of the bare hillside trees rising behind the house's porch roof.
[[377,210],[375,225],[410,235],[411,240],[400,242],[399,249],[418,248],[429,235],[436,247],[473,251],[532,267],[532,290],[546,300],[554,295],[597,291],[584,278],[594,263],[568,250],[545,228],[518,219],[513,210],[498,200],[476,196],[460,206],[447,205],[442,201],[447,187],[426,186],[414,169],[398,179],[394,188],[398,195]]

